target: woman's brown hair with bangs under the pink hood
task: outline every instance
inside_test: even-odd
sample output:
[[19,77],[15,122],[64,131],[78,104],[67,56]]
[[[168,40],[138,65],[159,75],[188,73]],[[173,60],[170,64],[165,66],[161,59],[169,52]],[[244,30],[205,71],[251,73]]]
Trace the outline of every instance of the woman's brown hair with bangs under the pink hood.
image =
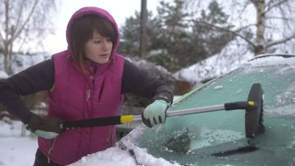
[[98,15],[85,15],[76,19],[71,26],[70,42],[71,48],[83,72],[85,44],[93,38],[93,32],[97,31],[103,37],[110,37],[113,45],[116,43],[116,33],[112,24]]

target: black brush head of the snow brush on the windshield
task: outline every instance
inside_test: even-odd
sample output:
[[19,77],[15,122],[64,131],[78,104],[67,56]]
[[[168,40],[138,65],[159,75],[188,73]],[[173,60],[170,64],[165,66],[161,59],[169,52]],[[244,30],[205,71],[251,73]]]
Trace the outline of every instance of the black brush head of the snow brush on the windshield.
[[254,83],[248,95],[248,101],[255,102],[255,109],[246,110],[245,127],[246,137],[254,138],[256,134],[264,133],[263,122],[263,99],[262,87],[260,83]]

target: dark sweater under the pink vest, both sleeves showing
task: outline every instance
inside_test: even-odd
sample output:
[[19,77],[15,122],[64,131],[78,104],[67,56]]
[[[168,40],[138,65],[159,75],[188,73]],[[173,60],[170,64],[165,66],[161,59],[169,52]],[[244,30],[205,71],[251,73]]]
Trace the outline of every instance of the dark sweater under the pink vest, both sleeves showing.
[[[17,116],[27,124],[32,112],[25,106],[20,96],[49,90],[54,83],[53,59],[31,66],[0,83],[0,104],[9,114]],[[131,93],[140,97],[172,102],[172,88],[161,80],[153,78],[128,60],[124,61],[121,93]]]

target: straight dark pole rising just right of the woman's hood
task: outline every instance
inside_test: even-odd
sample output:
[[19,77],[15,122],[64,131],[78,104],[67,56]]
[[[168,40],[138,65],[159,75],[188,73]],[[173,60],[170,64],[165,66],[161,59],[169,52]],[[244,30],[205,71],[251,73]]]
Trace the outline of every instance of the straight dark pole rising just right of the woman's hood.
[[141,0],[141,19],[140,19],[140,42],[139,42],[139,56],[143,57],[146,55],[147,50],[147,0]]

